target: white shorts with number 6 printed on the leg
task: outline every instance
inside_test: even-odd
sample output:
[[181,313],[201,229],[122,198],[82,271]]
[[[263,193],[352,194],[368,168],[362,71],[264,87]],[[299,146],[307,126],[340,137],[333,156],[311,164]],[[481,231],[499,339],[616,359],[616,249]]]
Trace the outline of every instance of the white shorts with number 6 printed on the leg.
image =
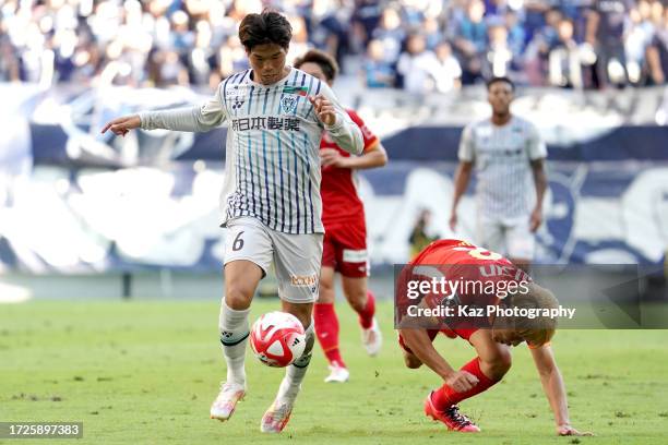
[[235,218],[227,221],[224,264],[247,260],[266,275],[273,261],[281,299],[311,303],[318,300],[320,288],[322,237],[322,233],[284,233],[252,217]]

